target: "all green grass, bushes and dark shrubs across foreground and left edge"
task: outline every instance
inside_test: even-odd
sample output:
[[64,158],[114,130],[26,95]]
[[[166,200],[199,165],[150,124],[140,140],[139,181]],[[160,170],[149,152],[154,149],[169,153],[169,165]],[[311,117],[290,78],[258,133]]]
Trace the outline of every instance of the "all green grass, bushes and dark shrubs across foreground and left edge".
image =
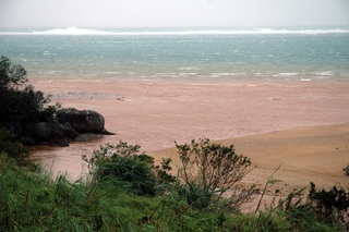
[[140,146],[120,142],[83,157],[87,180],[53,179],[25,162],[28,151],[13,135],[19,130],[29,135],[34,122],[52,120],[56,110],[45,107],[49,97],[23,86],[25,75],[22,66],[0,58],[0,231],[349,230],[349,193],[336,187],[317,192],[311,184],[310,200],[300,190],[269,209],[260,210],[258,204],[254,213],[241,212],[257,192],[237,186],[251,160],[232,145],[209,139],[176,143],[177,176],[170,159],[157,164]]

